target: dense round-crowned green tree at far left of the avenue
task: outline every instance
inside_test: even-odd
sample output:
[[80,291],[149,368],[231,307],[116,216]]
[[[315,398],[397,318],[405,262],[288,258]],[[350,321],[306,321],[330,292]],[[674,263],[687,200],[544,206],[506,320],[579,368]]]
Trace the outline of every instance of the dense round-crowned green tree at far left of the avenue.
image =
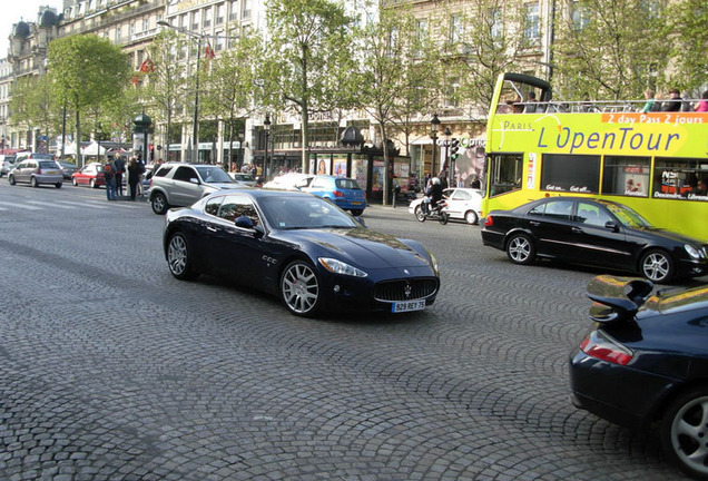
[[81,166],[81,114],[100,109],[104,102],[121,95],[129,79],[128,57],[108,39],[77,35],[49,43],[48,60],[55,99],[76,116],[77,158]]

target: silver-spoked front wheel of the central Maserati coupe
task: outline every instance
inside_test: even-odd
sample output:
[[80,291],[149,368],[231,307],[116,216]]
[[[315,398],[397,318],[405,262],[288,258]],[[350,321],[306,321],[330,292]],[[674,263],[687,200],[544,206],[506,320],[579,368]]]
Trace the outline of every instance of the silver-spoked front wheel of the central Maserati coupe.
[[319,279],[304,261],[295,261],[281,275],[281,298],[298,316],[313,316],[319,308]]

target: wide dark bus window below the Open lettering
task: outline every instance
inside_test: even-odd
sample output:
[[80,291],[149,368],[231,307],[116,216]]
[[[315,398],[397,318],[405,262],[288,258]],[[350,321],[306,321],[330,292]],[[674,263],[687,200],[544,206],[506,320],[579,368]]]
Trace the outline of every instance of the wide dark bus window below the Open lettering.
[[598,194],[600,156],[544,155],[541,165],[541,190]]

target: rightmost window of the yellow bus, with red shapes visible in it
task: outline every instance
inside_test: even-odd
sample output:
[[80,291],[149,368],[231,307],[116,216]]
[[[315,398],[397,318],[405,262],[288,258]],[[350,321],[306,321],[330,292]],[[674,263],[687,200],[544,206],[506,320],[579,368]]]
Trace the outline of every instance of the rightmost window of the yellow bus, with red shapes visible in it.
[[708,202],[706,183],[708,163],[704,159],[657,159],[652,197]]

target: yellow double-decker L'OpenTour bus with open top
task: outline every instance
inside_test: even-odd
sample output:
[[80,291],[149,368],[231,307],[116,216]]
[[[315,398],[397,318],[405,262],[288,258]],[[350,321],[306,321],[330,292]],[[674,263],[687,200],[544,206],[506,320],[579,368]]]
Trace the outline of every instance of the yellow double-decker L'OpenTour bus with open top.
[[542,79],[501,75],[486,128],[483,214],[544,196],[588,196],[708,239],[708,112],[643,106],[561,101]]

